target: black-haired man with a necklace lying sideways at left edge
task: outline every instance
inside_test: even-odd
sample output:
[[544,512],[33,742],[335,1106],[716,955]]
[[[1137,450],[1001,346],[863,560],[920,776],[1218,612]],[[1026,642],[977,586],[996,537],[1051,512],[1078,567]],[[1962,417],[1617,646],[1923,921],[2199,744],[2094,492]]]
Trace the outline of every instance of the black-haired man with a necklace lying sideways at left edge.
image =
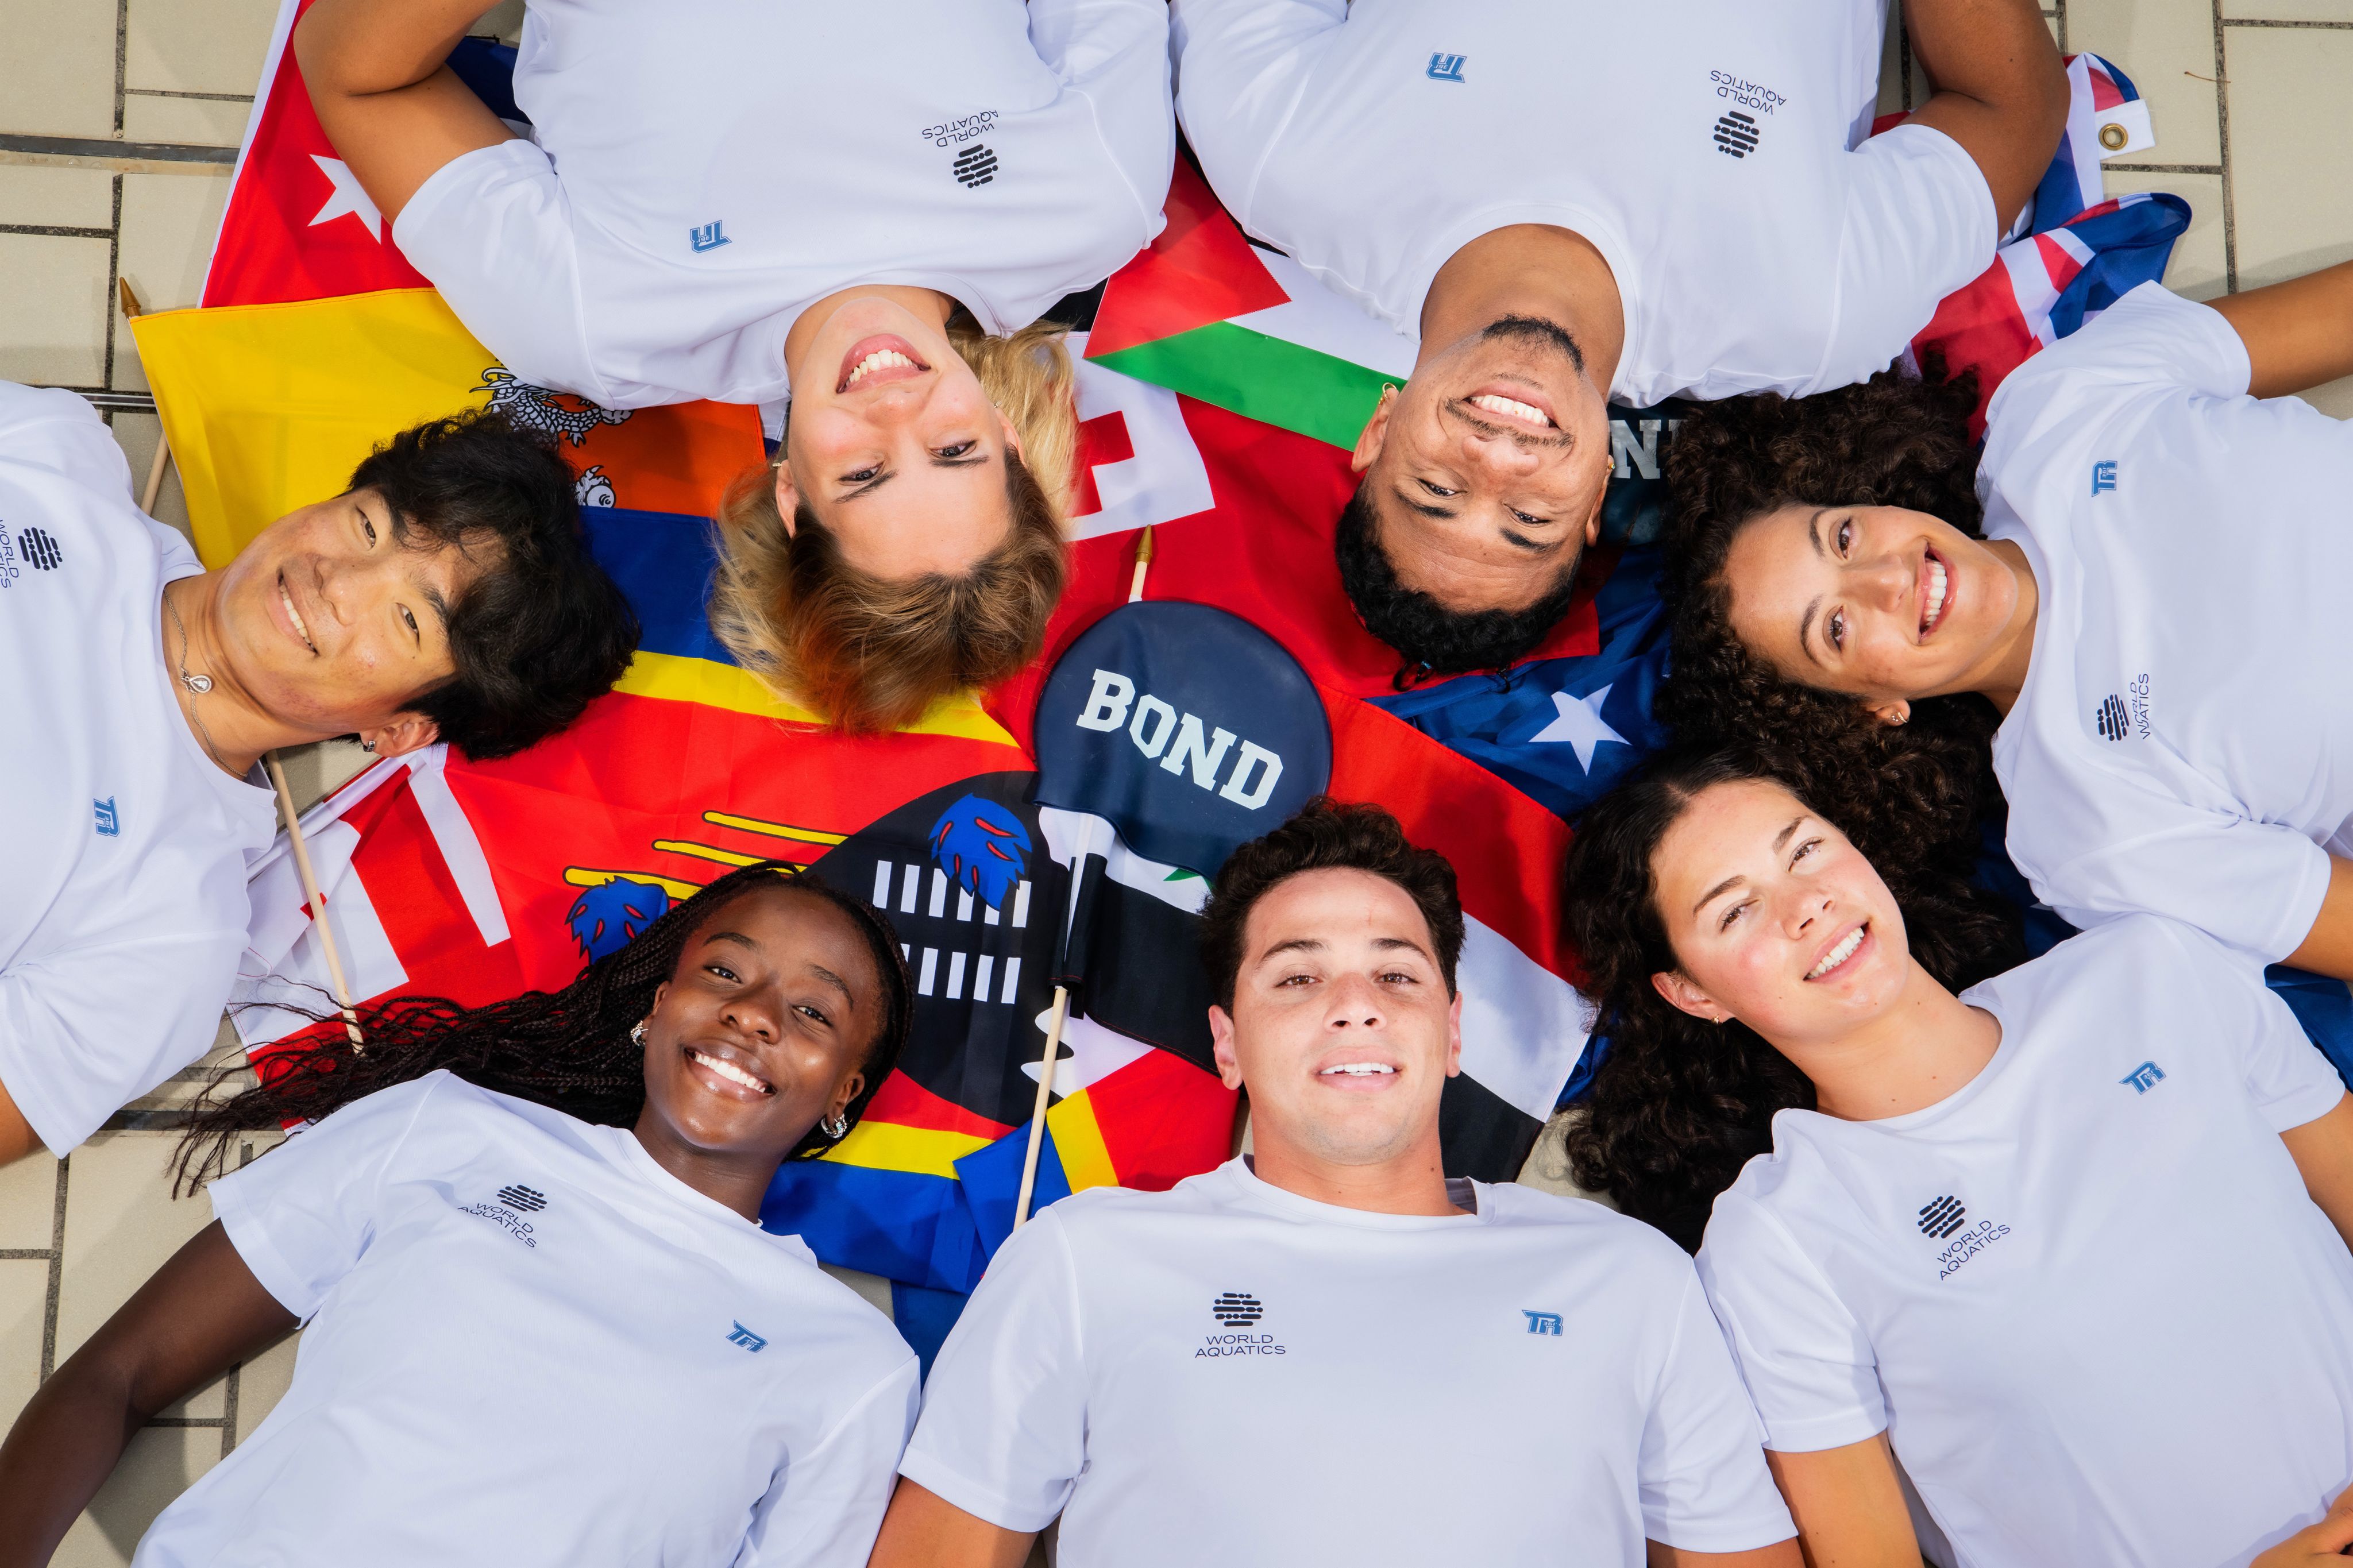
[[85,400],[0,383],[0,1164],[212,1044],[278,825],[264,752],[506,757],[635,642],[572,473],[504,418],[395,435],[205,571]]

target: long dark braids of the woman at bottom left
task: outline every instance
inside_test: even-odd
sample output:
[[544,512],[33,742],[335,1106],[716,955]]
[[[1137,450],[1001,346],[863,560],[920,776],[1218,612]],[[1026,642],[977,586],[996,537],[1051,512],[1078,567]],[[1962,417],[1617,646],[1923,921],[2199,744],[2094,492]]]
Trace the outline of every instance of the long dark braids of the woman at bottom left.
[[[478,1009],[442,997],[391,997],[360,1009],[365,1051],[353,1051],[339,1027],[320,1030],[308,1048],[271,1058],[261,1065],[259,1084],[226,1098],[219,1091],[238,1067],[224,1067],[188,1117],[174,1161],[174,1194],[193,1192],[226,1171],[238,1133],[318,1121],[362,1095],[438,1067],[581,1121],[631,1126],[645,1107],[645,1048],[631,1039],[631,1027],[652,1013],[654,990],[678,971],[687,938],[725,905],[779,884],[849,914],[882,978],[887,1006],[866,1046],[866,1084],[842,1112],[847,1126],[856,1126],[906,1048],[915,1013],[906,957],[889,919],[864,898],[791,865],[760,860],[671,907],[633,943],[595,959],[562,990],[522,992]],[[336,1013],[315,1018],[332,1023]],[[791,1159],[821,1154],[835,1143],[840,1138],[809,1128]]]

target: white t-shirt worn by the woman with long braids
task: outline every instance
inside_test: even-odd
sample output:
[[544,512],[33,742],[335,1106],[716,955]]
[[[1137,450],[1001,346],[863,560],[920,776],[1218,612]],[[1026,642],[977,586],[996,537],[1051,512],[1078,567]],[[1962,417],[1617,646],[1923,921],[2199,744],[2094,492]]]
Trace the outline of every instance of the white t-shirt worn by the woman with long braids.
[[866,1563],[913,1352],[631,1131],[433,1072],[212,1208],[308,1331],[134,1568]]

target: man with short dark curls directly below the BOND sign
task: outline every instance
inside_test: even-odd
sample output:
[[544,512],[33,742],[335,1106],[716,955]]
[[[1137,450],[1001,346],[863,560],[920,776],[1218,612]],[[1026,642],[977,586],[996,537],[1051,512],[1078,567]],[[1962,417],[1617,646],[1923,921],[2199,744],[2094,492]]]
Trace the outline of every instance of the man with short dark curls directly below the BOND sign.
[[1217,877],[1202,945],[1249,1157],[1016,1232],[948,1335],[880,1568],[1798,1568],[1689,1258],[1447,1180],[1454,870],[1311,802]]

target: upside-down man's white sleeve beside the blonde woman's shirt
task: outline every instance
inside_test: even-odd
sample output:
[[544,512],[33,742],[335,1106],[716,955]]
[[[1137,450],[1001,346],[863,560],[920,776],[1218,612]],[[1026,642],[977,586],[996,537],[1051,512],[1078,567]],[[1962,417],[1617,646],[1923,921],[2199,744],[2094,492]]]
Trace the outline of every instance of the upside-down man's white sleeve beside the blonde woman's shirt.
[[[1308,73],[1348,21],[1348,0],[1172,0],[1176,120],[1200,169],[1242,228],[1259,172],[1289,122]],[[1280,214],[1268,214],[1280,219]]]

